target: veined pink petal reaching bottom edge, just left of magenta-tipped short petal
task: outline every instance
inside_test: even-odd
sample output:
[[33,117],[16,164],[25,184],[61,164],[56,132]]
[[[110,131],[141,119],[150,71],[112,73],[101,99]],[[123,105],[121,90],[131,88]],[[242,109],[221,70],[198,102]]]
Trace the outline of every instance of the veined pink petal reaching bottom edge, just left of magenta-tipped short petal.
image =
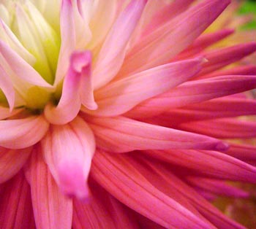
[[72,200],[59,192],[38,148],[32,154],[28,178],[37,228],[70,229]]

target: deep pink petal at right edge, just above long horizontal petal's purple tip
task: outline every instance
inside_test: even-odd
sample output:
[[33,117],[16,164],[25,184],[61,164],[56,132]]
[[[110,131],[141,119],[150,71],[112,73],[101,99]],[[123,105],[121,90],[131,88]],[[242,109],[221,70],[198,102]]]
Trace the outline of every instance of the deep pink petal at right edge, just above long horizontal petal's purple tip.
[[222,118],[181,123],[178,128],[219,139],[243,139],[256,137],[256,123],[253,121]]

